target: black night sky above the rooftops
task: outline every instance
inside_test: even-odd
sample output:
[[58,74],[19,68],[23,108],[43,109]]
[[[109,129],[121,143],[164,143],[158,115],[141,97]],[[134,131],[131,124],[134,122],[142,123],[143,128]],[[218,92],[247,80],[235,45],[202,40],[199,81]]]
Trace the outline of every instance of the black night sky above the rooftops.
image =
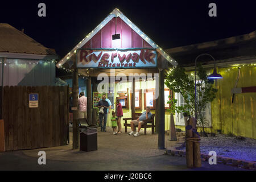
[[[38,4],[46,3],[46,18]],[[208,5],[217,5],[209,17]],[[255,1],[7,1],[0,2],[0,22],[31,36],[63,57],[118,7],[162,48],[185,46],[256,30]]]

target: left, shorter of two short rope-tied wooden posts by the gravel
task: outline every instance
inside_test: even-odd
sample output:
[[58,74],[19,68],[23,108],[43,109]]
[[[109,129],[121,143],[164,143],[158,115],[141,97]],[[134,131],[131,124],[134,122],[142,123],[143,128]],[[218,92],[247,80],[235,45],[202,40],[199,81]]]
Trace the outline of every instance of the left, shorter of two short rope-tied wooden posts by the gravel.
[[189,119],[186,127],[186,159],[187,168],[193,168],[193,142],[189,138],[193,137],[192,119]]

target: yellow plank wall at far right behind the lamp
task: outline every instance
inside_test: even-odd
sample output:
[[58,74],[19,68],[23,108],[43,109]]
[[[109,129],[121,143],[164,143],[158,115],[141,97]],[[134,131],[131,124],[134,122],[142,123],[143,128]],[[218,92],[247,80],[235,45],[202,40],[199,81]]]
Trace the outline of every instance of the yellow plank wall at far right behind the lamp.
[[[214,85],[217,98],[212,102],[212,132],[233,133],[256,139],[256,93],[235,94],[232,103],[231,89],[236,83],[238,68],[219,69],[223,79]],[[241,67],[237,88],[256,86],[256,67]]]

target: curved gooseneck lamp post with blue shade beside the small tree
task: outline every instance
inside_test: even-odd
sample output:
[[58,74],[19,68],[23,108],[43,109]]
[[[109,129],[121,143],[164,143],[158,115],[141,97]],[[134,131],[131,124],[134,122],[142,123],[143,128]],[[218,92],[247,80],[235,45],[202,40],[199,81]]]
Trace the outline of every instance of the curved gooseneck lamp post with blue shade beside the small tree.
[[200,56],[203,56],[203,55],[208,55],[208,56],[212,57],[212,59],[214,61],[213,73],[211,75],[209,75],[207,78],[208,79],[221,79],[222,78],[222,76],[220,74],[218,74],[216,71],[216,61],[212,55],[209,55],[208,53],[202,53],[201,55],[196,57],[196,60],[195,60],[195,118],[196,118],[196,122],[197,122],[197,117],[196,117],[196,61]]

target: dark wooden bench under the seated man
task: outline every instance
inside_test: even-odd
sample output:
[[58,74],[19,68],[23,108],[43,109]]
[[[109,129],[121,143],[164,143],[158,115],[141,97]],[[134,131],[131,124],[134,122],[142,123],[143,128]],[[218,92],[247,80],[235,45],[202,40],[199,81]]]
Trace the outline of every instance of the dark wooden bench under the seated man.
[[[125,133],[127,133],[127,126],[131,127],[130,123],[127,123],[128,120],[136,120],[141,116],[142,113],[135,113],[131,118],[123,118],[125,120],[125,123],[123,123],[123,126],[125,126]],[[152,114],[151,119],[145,119],[143,120],[144,124],[141,126],[141,128],[144,129],[144,134],[147,134],[147,128],[151,127],[152,134],[155,134],[155,114]],[[134,127],[134,130],[136,131],[136,127]]]

